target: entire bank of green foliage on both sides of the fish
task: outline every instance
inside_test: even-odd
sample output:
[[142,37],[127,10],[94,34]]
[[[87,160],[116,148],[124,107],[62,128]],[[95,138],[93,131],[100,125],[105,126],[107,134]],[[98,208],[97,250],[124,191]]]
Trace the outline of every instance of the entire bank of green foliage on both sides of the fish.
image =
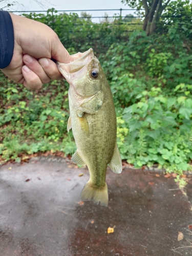
[[[46,15],[27,15],[52,27],[71,54],[94,49],[114,96],[122,159],[135,167],[158,164],[177,173],[177,181],[183,170],[191,169],[192,159],[191,24],[188,18],[170,15],[190,16],[188,1],[181,2],[170,2],[172,8],[161,16],[159,34],[151,36],[136,30],[140,25],[132,27],[131,22],[140,23],[132,17],[116,17],[114,22],[106,17],[94,24],[91,17],[79,19],[54,9]],[[3,159],[20,161],[22,153],[75,152],[72,132],[67,133],[68,88],[64,80],[51,81],[35,93],[1,74]],[[184,180],[180,183],[182,187]]]

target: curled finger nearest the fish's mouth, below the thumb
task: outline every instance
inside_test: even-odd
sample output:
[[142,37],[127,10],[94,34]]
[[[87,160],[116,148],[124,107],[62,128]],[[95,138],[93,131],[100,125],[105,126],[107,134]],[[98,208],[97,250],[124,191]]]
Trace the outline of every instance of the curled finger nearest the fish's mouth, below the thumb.
[[44,69],[46,74],[53,80],[59,80],[62,78],[61,73],[59,72],[57,65],[54,61],[49,58],[40,58],[39,63],[41,67]]

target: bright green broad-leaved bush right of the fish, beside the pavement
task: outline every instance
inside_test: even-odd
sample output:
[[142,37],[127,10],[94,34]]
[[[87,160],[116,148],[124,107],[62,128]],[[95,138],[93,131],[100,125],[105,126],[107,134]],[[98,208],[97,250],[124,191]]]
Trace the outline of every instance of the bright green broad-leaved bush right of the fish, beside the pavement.
[[192,158],[192,99],[168,98],[160,88],[143,91],[137,103],[123,110],[129,134],[120,146],[122,157],[136,167],[159,163],[182,174]]

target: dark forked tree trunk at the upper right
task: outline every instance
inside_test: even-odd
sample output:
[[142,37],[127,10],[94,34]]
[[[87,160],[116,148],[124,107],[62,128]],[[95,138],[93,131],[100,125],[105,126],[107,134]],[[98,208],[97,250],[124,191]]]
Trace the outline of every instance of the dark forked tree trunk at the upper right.
[[132,8],[137,8],[139,12],[144,8],[143,30],[150,35],[155,31],[156,24],[170,0],[122,0],[121,2]]

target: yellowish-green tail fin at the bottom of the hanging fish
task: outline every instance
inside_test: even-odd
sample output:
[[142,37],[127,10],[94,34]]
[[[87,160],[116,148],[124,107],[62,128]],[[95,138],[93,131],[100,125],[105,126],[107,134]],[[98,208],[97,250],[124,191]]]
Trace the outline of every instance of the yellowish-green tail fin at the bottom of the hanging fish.
[[95,187],[90,181],[84,185],[81,192],[81,200],[93,201],[96,204],[108,206],[108,185],[104,187]]

